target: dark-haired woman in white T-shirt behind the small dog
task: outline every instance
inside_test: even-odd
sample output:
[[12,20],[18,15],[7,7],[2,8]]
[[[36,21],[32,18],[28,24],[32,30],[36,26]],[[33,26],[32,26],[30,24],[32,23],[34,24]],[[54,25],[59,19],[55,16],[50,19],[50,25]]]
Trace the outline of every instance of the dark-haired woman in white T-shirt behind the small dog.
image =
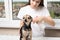
[[[55,25],[48,9],[44,7],[43,0],[29,0],[28,4],[20,9],[17,17],[22,19],[22,17],[26,14],[33,18],[31,23],[33,37],[44,36],[45,23],[51,26]],[[20,20],[20,27],[23,24],[23,21]]]

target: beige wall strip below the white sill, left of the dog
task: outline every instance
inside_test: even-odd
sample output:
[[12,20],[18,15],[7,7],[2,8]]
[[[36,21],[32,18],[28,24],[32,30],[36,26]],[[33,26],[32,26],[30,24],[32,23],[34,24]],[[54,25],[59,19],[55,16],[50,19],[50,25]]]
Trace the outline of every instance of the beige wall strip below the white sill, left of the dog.
[[0,35],[19,35],[19,28],[0,28]]

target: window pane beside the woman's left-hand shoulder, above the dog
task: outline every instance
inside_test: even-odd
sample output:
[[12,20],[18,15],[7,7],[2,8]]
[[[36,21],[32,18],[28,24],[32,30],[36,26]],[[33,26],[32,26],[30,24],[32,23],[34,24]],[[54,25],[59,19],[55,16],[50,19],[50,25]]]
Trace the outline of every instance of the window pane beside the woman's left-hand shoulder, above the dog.
[[18,12],[21,7],[25,6],[27,4],[27,0],[13,0],[12,1],[12,19],[13,20],[19,20],[17,18]]

